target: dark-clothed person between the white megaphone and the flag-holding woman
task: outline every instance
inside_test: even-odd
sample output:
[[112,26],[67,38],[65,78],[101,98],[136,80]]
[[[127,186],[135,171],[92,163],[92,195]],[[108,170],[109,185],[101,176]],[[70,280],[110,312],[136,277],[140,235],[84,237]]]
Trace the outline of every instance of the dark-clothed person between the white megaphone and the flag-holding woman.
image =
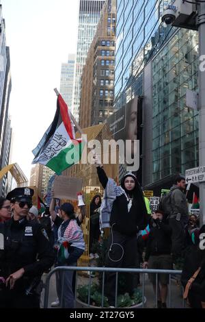
[[100,217],[99,209],[101,206],[101,197],[100,195],[95,195],[90,203],[90,240],[89,240],[89,249],[90,249],[90,258],[98,257],[98,254],[92,252],[94,243],[98,242],[100,237]]

